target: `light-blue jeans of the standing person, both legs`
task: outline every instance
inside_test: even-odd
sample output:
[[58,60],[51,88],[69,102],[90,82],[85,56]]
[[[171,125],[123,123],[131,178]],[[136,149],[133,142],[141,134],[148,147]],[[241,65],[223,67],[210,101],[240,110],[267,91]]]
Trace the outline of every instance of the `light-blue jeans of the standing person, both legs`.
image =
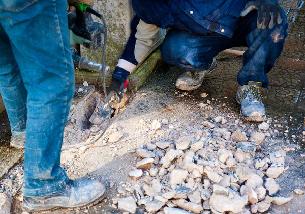
[[24,196],[62,190],[63,132],[74,94],[67,0],[0,0],[0,93],[12,135],[26,131]]

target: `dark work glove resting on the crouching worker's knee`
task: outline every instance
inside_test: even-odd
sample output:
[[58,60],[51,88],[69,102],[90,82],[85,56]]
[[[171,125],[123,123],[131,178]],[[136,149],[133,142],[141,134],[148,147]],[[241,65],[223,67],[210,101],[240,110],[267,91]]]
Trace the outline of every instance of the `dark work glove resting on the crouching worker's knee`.
[[269,26],[272,29],[277,23],[283,21],[282,8],[277,0],[256,0],[247,2],[240,16],[246,16],[250,11],[257,10],[257,28],[265,29]]

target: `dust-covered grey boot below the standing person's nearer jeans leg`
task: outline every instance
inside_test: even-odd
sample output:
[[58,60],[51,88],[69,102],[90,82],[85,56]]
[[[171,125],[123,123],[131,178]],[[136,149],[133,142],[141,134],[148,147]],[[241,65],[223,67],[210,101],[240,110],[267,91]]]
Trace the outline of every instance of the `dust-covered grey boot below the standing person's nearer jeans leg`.
[[40,197],[23,197],[27,211],[58,208],[80,209],[97,204],[104,198],[105,187],[96,180],[70,180],[63,190]]

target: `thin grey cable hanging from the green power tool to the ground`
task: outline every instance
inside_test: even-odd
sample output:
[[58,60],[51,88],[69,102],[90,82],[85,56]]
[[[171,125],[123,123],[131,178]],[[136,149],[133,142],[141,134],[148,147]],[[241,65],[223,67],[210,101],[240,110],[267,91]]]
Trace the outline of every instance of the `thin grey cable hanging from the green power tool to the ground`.
[[104,45],[103,45],[103,52],[102,52],[103,90],[104,90],[105,98],[106,98],[106,101],[107,101],[107,104],[108,104],[109,118],[108,118],[108,122],[107,122],[107,125],[106,125],[104,131],[100,134],[100,136],[97,139],[95,139],[93,141],[90,141],[89,143],[86,143],[86,144],[81,144],[81,145],[77,145],[77,146],[73,146],[73,147],[68,147],[68,148],[62,149],[62,151],[69,150],[69,149],[72,149],[72,148],[79,148],[79,147],[82,147],[82,146],[88,146],[88,145],[96,143],[98,140],[100,140],[102,138],[104,133],[107,131],[107,129],[109,128],[109,125],[110,125],[110,121],[111,121],[111,105],[110,105],[109,98],[108,98],[108,95],[107,95],[106,82],[105,82],[105,53],[106,53],[106,41],[107,41],[107,25],[106,25],[106,20],[105,20],[105,18],[103,17],[102,14],[100,14],[99,12],[95,11],[92,8],[88,7],[86,9],[86,11],[88,13],[91,13],[91,14],[97,16],[98,18],[102,19],[103,24],[104,24]]

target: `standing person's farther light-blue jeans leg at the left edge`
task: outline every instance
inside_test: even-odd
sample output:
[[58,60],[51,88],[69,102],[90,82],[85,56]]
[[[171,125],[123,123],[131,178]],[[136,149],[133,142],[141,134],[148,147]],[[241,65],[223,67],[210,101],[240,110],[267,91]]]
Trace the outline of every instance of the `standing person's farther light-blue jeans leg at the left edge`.
[[0,94],[9,116],[12,136],[25,138],[26,95],[10,40],[0,25]]

